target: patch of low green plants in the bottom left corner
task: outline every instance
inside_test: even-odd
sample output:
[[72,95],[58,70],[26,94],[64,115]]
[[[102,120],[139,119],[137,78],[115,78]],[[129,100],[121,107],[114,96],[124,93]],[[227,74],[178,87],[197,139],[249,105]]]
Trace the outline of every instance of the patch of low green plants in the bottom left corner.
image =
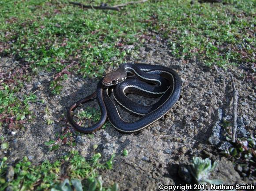
[[[103,181],[98,176],[97,169],[111,169],[115,155],[104,163],[100,163],[101,154],[96,153],[88,161],[77,151],[65,155],[60,160],[53,163],[45,161],[40,165],[31,165],[27,157],[16,163],[14,167],[6,164],[7,158],[2,158],[0,162],[0,190],[4,191],[7,187],[13,190],[49,190],[64,191],[64,187],[68,187],[69,181],[64,178],[70,178],[73,186],[81,187],[84,191],[117,191],[117,184],[112,188],[103,187]],[[62,168],[66,168],[65,173],[61,173]],[[8,180],[4,178],[7,173]],[[82,183],[81,180],[83,179]],[[61,181],[64,182],[62,184]],[[67,185],[68,184],[68,185]],[[78,190],[77,190],[78,191]]]

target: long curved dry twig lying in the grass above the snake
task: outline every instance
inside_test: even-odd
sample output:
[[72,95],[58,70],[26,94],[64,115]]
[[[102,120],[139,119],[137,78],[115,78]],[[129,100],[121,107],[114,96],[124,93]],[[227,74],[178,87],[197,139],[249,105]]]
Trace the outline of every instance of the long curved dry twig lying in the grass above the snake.
[[112,11],[120,11],[119,7],[124,7],[128,4],[140,4],[140,3],[147,2],[147,1],[148,0],[130,1],[130,2],[125,3],[125,4],[114,5],[113,7],[84,5],[84,4],[81,4],[81,3],[71,2],[71,1],[69,1],[69,3],[73,4],[73,5],[78,5],[78,6],[82,7],[83,9],[105,9],[105,10],[112,10]]

